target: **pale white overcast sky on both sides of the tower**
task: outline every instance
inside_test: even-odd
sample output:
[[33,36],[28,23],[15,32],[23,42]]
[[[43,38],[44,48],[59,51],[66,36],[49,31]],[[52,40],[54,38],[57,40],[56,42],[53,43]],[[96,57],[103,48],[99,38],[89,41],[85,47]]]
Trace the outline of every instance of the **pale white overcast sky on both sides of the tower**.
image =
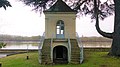
[[[44,15],[32,11],[32,7],[24,5],[17,0],[10,1],[12,7],[4,10],[0,8],[0,34],[37,36],[45,31]],[[100,27],[107,32],[113,31],[114,17],[101,21]],[[79,36],[100,36],[95,29],[95,22],[89,17],[80,17],[76,20],[76,31]]]

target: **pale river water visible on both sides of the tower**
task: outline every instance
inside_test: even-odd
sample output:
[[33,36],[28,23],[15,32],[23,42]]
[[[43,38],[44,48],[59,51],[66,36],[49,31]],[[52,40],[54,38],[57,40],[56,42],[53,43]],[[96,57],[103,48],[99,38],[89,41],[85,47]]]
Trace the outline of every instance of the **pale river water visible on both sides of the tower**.
[[[112,42],[82,42],[83,47],[88,47],[88,48],[110,48]],[[2,48],[2,49],[38,49],[38,42],[12,42],[12,43],[7,43],[7,45]]]

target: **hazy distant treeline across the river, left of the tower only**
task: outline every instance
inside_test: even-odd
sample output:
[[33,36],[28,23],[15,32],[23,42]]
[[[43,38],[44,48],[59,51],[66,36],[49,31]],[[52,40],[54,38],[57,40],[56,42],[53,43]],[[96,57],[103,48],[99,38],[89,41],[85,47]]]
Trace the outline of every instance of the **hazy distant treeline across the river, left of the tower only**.
[[40,36],[13,36],[13,35],[0,35],[0,41],[36,41],[40,40]]

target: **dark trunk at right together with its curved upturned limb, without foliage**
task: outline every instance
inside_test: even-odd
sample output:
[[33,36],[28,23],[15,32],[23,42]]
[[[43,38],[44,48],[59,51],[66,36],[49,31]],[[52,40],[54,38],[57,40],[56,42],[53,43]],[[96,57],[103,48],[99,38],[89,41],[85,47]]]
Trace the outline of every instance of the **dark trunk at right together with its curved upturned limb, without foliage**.
[[95,13],[96,13],[95,14],[96,15],[96,30],[102,36],[113,39],[111,50],[108,53],[108,55],[120,57],[120,1],[114,0],[114,3],[115,3],[114,32],[106,33],[106,32],[103,32],[99,27],[98,7],[97,7],[96,0],[94,0]]

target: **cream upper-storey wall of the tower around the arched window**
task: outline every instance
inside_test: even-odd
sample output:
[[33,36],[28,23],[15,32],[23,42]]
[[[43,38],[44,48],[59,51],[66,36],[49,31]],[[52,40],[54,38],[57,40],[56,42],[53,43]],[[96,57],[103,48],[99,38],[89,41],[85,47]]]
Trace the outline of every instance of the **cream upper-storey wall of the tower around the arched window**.
[[65,38],[76,38],[75,12],[45,12],[45,38],[56,38],[56,24],[58,20],[64,21]]

